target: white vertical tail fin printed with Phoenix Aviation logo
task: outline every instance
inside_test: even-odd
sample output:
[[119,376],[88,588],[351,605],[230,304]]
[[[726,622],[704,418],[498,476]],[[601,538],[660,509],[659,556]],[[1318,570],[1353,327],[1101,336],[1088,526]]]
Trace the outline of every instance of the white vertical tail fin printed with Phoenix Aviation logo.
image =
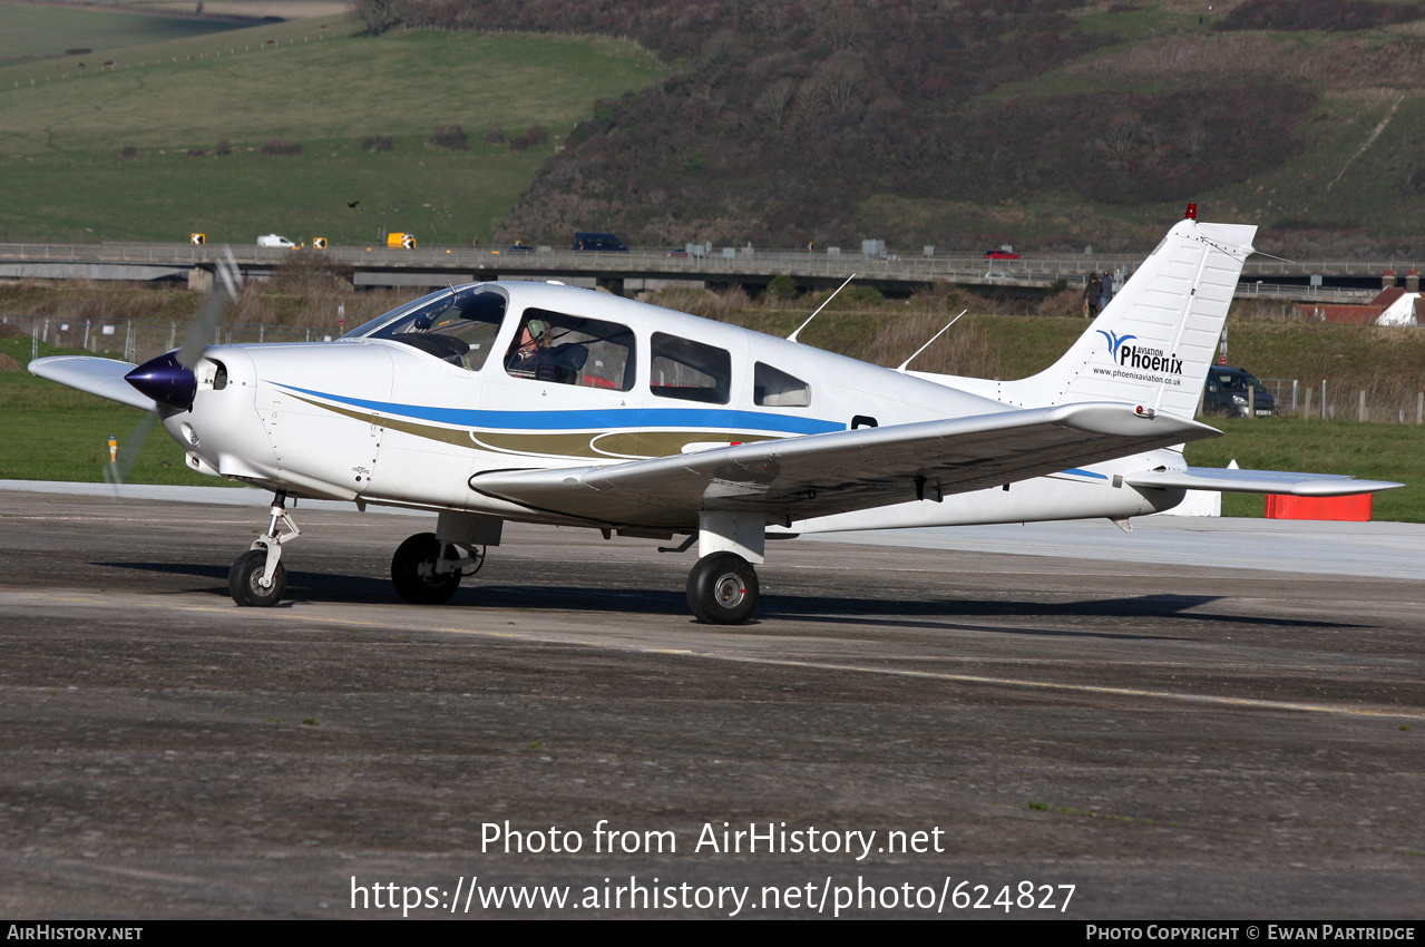
[[1180,221],[1069,352],[1039,375],[978,384],[921,377],[1025,407],[1112,400],[1191,417],[1255,234],[1255,226]]

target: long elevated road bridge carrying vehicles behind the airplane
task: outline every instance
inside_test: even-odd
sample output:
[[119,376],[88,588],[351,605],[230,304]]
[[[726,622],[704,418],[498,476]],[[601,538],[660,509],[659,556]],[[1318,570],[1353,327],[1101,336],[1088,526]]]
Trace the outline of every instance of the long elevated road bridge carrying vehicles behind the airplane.
[[[292,251],[265,246],[197,246],[192,244],[0,244],[0,278],[41,279],[187,279],[195,289],[211,286],[217,261],[228,252],[247,278],[269,278]],[[665,283],[710,288],[740,285],[760,292],[774,278],[791,276],[802,289],[836,286],[852,273],[862,285],[906,296],[935,283],[1042,293],[1057,281],[1083,285],[1090,273],[1110,271],[1127,278],[1144,253],[1027,255],[985,259],[973,253],[865,255],[831,251],[634,249],[577,252],[549,246],[484,249],[429,246],[392,249],[333,246],[322,259],[349,268],[358,286],[443,286],[487,279],[560,279],[597,285],[616,293]],[[1312,261],[1294,263],[1264,256],[1247,262],[1238,298],[1302,302],[1367,302],[1382,276],[1418,282],[1418,265],[1399,261]],[[1321,285],[1312,285],[1312,278]]]

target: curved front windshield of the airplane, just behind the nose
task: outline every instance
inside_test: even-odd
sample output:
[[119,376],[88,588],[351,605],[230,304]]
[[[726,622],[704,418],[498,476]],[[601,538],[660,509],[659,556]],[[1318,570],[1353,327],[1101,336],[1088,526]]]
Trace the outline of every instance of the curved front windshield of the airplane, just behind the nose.
[[493,289],[457,289],[432,293],[409,303],[402,316],[372,339],[405,342],[452,365],[479,372],[490,357],[494,335],[509,300]]

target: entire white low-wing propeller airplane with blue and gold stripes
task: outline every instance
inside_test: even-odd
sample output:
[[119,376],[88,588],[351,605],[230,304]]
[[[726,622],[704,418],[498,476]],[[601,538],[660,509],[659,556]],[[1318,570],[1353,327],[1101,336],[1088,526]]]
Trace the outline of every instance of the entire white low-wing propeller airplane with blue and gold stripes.
[[[745,621],[768,538],[1130,517],[1184,490],[1342,496],[1401,484],[1188,467],[1193,419],[1254,226],[1190,205],[1069,352],[1017,382],[885,369],[606,293],[527,282],[422,296],[335,342],[201,340],[142,366],[30,363],[157,413],[187,463],[272,490],[238,557],[239,605],[274,605],[289,497],[429,510],[402,598],[445,602],[504,521],[697,543],[693,614]],[[209,329],[211,332],[211,329]],[[201,339],[201,335],[200,335]]]

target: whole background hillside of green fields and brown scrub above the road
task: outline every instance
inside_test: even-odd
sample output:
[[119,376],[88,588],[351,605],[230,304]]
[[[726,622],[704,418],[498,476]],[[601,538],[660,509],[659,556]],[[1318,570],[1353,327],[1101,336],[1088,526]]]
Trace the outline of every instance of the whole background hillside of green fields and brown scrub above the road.
[[[27,17],[0,57],[94,50],[0,67],[0,238],[1114,251],[1196,199],[1278,255],[1425,256],[1421,4],[1214,7],[410,0],[459,31],[380,37],[0,7]],[[469,151],[428,147],[445,125]],[[506,144],[532,125],[547,141]]]

